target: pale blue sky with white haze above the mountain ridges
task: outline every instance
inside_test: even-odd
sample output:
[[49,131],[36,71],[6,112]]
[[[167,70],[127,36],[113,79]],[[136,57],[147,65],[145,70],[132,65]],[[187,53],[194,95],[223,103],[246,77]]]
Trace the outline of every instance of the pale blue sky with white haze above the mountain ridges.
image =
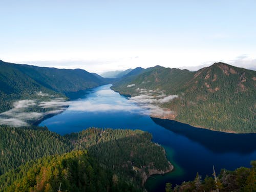
[[0,59],[89,72],[256,70],[256,1],[1,0]]

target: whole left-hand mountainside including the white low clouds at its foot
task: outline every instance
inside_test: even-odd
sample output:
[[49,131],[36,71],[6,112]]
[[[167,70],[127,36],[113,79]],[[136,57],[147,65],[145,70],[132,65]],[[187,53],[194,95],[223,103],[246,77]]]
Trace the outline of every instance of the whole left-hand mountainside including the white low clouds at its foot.
[[64,101],[77,91],[106,83],[109,79],[80,69],[36,67],[0,60],[0,124],[28,126],[62,112],[68,105]]

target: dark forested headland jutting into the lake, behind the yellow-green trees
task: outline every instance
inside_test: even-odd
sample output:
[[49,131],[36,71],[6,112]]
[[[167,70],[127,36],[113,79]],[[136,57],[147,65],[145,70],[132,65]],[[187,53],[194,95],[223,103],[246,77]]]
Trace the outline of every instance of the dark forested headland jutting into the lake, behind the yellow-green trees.
[[152,174],[170,172],[173,166],[167,161],[163,147],[152,143],[152,135],[141,130],[87,129],[65,136],[75,149],[87,148],[102,167],[113,168],[120,177],[133,177],[136,170],[144,184]]

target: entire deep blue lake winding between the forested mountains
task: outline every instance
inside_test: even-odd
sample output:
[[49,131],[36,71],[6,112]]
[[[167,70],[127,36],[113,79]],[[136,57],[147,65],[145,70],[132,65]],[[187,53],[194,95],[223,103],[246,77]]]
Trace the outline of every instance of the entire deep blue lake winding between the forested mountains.
[[151,118],[148,111],[110,90],[110,85],[87,90],[81,99],[72,101],[65,112],[39,125],[46,125],[50,131],[61,135],[88,127],[141,129],[152,133],[153,141],[165,148],[175,170],[148,179],[149,191],[164,191],[166,182],[175,185],[192,180],[197,172],[203,177],[211,176],[212,165],[218,173],[221,168],[250,167],[250,161],[256,159],[256,134],[213,132]]

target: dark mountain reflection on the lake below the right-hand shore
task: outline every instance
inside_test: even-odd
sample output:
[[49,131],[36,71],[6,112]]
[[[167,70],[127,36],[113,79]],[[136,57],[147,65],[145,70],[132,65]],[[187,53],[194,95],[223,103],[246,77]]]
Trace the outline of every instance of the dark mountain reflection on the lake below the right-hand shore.
[[152,120],[170,131],[200,143],[215,153],[247,154],[256,150],[256,134],[230,134],[201,129],[168,119],[152,118]]

